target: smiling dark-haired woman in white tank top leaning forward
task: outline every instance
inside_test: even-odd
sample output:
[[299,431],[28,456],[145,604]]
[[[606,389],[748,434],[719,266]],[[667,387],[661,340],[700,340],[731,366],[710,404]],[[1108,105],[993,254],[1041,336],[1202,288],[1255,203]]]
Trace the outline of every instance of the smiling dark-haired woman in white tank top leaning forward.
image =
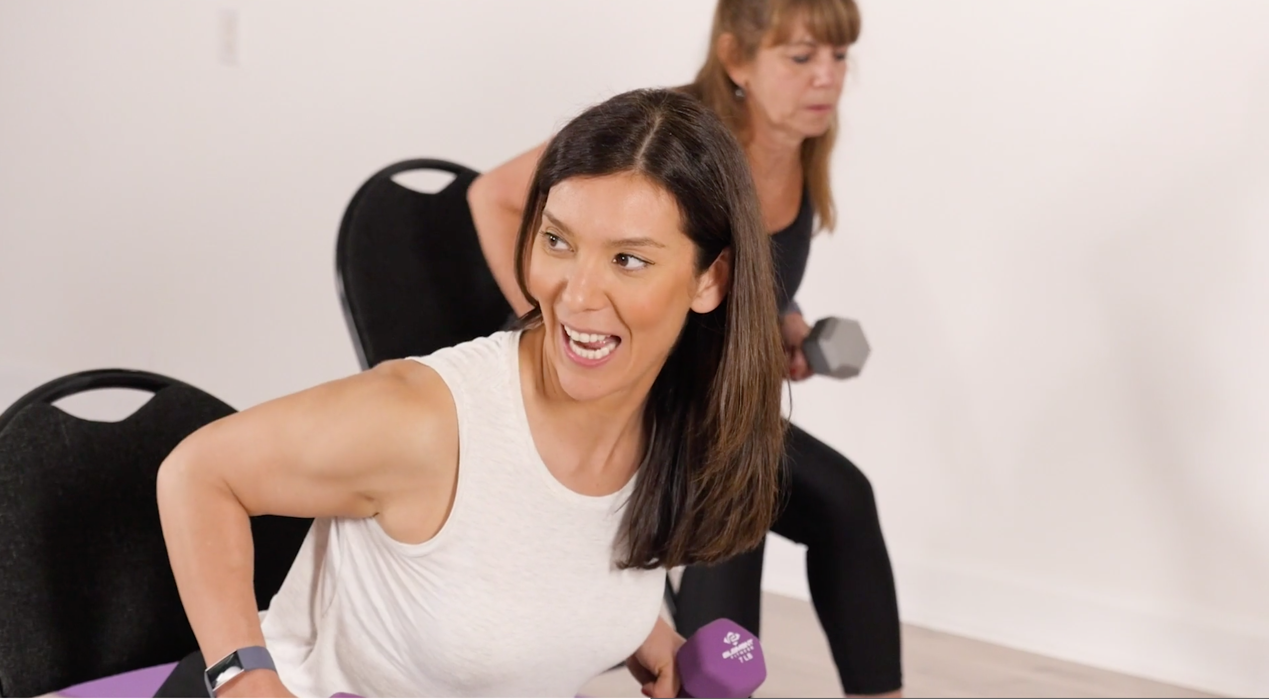
[[[628,658],[676,695],[665,570],[751,549],[778,492],[744,152],[688,95],[618,95],[544,148],[514,250],[523,330],[225,417],[164,462],[183,665],[212,661],[213,694],[572,696]],[[263,620],[260,514],[316,518]]]

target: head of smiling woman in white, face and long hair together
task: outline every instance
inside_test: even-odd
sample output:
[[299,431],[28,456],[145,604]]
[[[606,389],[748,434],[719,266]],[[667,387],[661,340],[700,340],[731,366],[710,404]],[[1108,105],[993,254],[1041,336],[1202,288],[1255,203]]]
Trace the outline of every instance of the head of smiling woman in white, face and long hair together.
[[[718,561],[760,543],[754,526],[775,507],[763,462],[779,455],[754,441],[779,421],[770,247],[744,152],[713,113],[667,90],[609,104],[561,131],[532,178],[515,245],[533,303],[522,323],[547,339],[546,386],[584,402],[647,396],[652,458],[626,563]],[[577,157],[575,143],[607,146]]]

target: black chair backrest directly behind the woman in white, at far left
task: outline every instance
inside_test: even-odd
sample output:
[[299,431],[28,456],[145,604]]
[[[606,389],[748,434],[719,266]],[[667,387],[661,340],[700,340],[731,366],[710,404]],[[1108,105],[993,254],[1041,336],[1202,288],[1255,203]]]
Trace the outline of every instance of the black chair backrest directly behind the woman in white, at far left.
[[[118,422],[55,401],[154,396]],[[48,382],[0,415],[0,695],[32,696],[197,648],[164,544],[155,480],[187,435],[233,408],[183,382],[102,369]],[[256,599],[272,599],[308,520],[254,518]]]

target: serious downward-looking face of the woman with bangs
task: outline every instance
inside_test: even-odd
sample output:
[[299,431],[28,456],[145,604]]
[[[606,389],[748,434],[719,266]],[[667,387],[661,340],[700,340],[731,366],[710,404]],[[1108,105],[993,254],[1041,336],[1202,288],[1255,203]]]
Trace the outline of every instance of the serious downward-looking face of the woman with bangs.
[[846,77],[846,47],[816,42],[799,23],[789,41],[763,42],[751,61],[728,72],[744,88],[753,118],[812,138],[832,124]]

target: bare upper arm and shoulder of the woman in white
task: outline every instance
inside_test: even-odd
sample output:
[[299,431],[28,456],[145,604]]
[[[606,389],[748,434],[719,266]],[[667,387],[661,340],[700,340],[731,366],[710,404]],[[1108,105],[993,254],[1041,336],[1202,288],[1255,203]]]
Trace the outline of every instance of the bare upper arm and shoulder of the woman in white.
[[251,515],[308,518],[374,516],[401,499],[445,510],[457,467],[453,397],[412,360],[217,420],[164,464],[223,483]]

